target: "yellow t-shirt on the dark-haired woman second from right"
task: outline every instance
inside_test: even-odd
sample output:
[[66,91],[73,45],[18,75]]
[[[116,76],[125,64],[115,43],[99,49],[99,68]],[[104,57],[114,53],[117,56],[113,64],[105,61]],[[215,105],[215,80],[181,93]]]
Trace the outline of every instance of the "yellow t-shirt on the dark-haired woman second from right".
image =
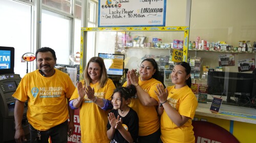
[[[159,102],[159,99],[154,91],[157,91],[157,84],[162,84],[160,81],[155,78],[150,80],[141,81],[139,78],[140,87],[147,92],[152,98],[156,99]],[[125,87],[127,81],[123,83]],[[156,106],[144,106],[141,104],[138,97],[132,99],[129,104],[133,108],[139,117],[139,136],[150,135],[156,132],[160,127],[160,121],[157,114]]]

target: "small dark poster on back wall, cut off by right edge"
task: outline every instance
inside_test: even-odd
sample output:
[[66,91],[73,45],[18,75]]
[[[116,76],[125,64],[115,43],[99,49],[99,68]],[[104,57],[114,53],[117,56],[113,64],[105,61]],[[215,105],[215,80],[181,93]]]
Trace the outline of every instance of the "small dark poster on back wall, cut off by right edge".
[[238,60],[238,71],[239,72],[253,71],[254,68],[255,68],[255,60],[254,59]]

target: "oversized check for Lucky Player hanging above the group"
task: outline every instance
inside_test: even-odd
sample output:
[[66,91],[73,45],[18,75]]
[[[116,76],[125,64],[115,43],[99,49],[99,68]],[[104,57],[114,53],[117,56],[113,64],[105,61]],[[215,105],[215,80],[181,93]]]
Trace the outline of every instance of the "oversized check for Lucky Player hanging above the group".
[[98,27],[165,26],[166,0],[100,0]]

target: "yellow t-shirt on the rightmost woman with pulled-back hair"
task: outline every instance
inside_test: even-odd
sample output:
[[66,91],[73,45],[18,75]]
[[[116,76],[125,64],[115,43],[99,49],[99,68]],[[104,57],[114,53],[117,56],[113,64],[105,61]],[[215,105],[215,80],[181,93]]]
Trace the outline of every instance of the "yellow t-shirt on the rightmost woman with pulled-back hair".
[[[165,110],[161,116],[161,139],[163,142],[195,142],[193,126],[191,119],[194,118],[197,108],[197,98],[191,89],[186,85],[180,89],[168,87],[167,103],[172,105],[182,116],[190,119],[181,127],[178,127],[172,120],[169,119]],[[166,104],[166,103],[165,103]]]

